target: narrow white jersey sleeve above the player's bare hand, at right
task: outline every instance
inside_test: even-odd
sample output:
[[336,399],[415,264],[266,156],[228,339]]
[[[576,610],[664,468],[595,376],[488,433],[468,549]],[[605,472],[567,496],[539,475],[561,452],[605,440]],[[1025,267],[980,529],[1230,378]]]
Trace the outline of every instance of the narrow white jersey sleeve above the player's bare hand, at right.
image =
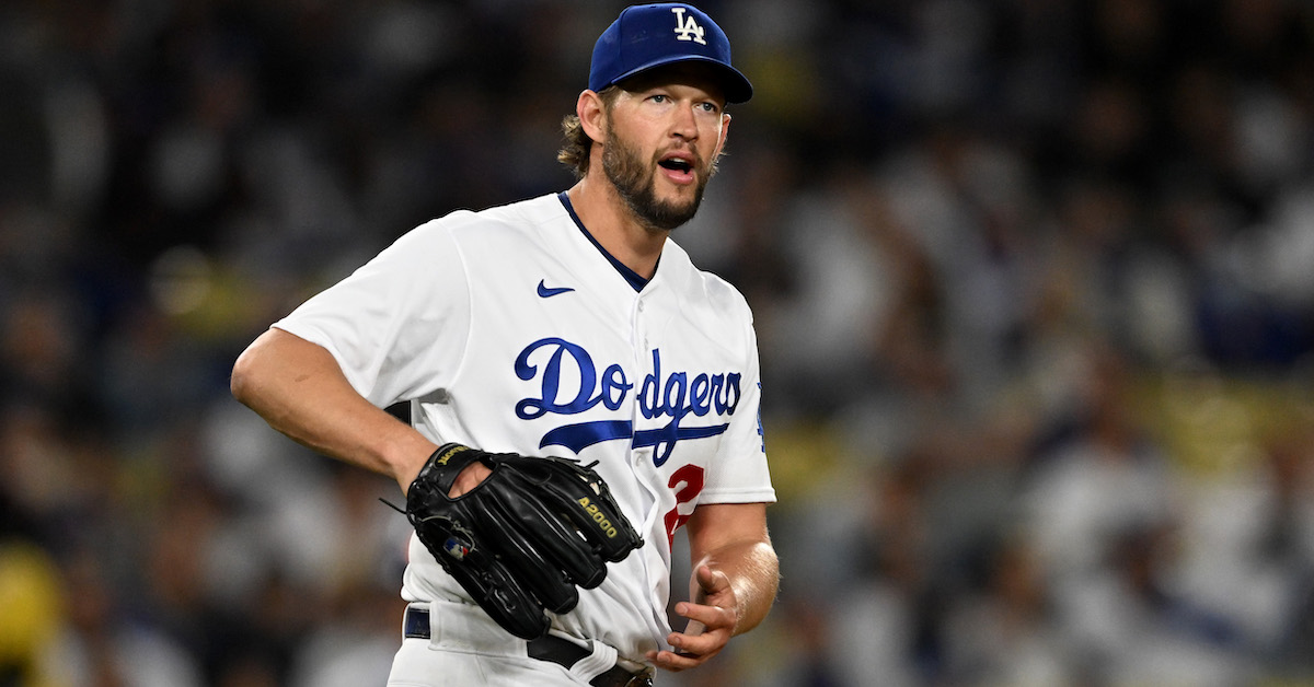
[[[746,310],[746,305],[744,306]],[[750,315],[745,317],[748,361],[740,381],[738,405],[716,458],[710,465],[700,503],[774,503],[775,490],[766,462],[766,436],[762,430],[762,382],[757,353],[757,334]]]

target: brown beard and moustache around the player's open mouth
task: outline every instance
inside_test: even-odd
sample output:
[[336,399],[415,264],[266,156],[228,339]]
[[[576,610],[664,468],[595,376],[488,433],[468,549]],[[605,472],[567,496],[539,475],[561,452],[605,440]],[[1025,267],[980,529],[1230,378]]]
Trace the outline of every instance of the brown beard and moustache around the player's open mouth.
[[703,202],[707,180],[716,171],[715,166],[704,166],[696,152],[694,155],[696,185],[694,197],[685,202],[657,198],[656,162],[645,164],[637,150],[610,131],[602,148],[602,171],[641,225],[650,231],[670,231],[694,218]]

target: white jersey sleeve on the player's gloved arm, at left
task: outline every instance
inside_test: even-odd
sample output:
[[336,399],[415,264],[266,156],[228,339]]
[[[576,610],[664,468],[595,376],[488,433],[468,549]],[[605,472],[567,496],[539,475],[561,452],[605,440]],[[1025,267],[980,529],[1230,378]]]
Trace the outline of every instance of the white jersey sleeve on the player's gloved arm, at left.
[[325,347],[385,407],[449,384],[465,353],[469,282],[443,221],[397,239],[273,326]]

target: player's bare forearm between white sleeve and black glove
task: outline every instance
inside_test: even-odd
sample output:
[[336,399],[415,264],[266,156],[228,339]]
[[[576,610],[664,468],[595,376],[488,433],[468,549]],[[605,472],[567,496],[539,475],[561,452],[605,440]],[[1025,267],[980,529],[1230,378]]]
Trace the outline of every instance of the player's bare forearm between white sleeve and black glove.
[[403,493],[438,448],[360,395],[327,349],[279,328],[242,352],[231,390],[298,444],[388,476]]

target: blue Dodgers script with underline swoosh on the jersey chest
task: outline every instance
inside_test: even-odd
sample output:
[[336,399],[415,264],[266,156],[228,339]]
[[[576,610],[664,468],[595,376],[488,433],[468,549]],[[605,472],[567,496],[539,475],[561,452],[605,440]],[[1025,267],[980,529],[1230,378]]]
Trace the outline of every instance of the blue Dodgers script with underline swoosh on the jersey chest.
[[[533,363],[539,361],[539,363]],[[540,368],[541,364],[541,368]],[[585,447],[616,439],[629,439],[632,448],[653,447],[653,465],[661,466],[679,441],[704,439],[724,432],[728,422],[715,423],[735,414],[740,401],[740,373],[670,372],[661,369],[661,351],[652,351],[652,372],[639,385],[639,412],[645,419],[670,418],[657,430],[635,431],[631,420],[594,420],[557,427],[543,435],[539,448],[560,445],[578,453]],[[635,390],[618,364],[600,373],[583,347],[565,339],[539,339],[520,351],[515,359],[515,374],[524,381],[539,380],[539,395],[523,398],[515,405],[515,415],[533,420],[547,414],[578,415],[599,403],[607,410],[619,410]],[[577,377],[578,389],[564,388],[562,380]],[[686,419],[712,418],[714,424],[683,427]]]

